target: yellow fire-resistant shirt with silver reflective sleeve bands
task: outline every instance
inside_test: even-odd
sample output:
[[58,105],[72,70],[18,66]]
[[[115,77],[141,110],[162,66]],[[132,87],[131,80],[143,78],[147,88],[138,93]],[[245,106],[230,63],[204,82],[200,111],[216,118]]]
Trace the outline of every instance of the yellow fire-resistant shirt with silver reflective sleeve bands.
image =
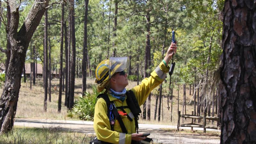
[[[150,77],[143,79],[140,85],[132,88],[132,91],[134,92],[140,106],[146,101],[149,93],[163,82],[169,69],[169,67],[166,67],[164,63],[161,62],[159,66],[150,74]],[[122,102],[121,100],[112,97],[110,94],[108,94],[108,97],[110,101],[114,101],[116,107],[127,106],[126,100]],[[124,108],[124,110],[127,114],[131,112],[129,108]],[[95,105],[93,122],[93,128],[96,132],[98,140],[114,144],[131,144],[131,134],[136,133],[134,118],[132,118],[133,120],[130,121],[127,116],[120,115],[128,132],[125,134],[122,132],[118,120],[115,121],[115,131],[111,131],[107,113],[108,109],[106,101],[103,98],[100,98]]]

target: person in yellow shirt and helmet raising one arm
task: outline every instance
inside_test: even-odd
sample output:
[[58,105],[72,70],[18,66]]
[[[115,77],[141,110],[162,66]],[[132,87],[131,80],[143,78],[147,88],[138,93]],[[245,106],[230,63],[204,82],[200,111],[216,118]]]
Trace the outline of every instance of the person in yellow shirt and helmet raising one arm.
[[[164,81],[164,77],[170,69],[168,63],[176,49],[176,44],[172,43],[164,60],[150,74],[151,76],[143,79],[141,84],[130,90],[135,95],[139,106],[146,101],[149,93]],[[93,128],[97,139],[101,143],[136,144],[146,138],[142,136],[142,133],[136,133],[138,128],[138,126],[136,127],[138,125],[136,124],[138,121],[136,120],[137,115],[134,116],[135,114],[128,107],[128,91],[126,91],[125,87],[129,83],[124,69],[129,67],[129,63],[130,61],[127,57],[111,57],[109,60],[100,62],[96,68],[95,82],[97,83],[98,92],[102,92],[105,89],[105,97],[108,97],[109,101],[112,102],[108,106],[106,100],[99,98],[95,105]],[[114,111],[111,108],[118,110],[125,128],[122,128],[122,124],[115,120]]]

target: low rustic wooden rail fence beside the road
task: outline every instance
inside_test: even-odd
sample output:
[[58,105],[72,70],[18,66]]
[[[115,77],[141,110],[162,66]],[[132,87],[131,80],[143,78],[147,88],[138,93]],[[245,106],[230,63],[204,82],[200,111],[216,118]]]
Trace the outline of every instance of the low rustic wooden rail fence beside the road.
[[[180,124],[180,117],[191,118],[191,123],[189,123],[189,124]],[[203,125],[193,123],[194,119],[203,119]],[[204,113],[204,116],[195,116],[195,115],[193,115],[193,111],[192,111],[192,115],[180,115],[180,111],[178,111],[177,130],[179,131],[180,127],[191,127],[191,130],[193,131],[193,127],[201,127],[201,128],[204,128],[204,133],[205,133],[206,128],[207,129],[216,129],[216,130],[219,128],[217,126],[206,126],[206,120],[207,119],[220,122],[220,117],[206,116],[206,113]]]

